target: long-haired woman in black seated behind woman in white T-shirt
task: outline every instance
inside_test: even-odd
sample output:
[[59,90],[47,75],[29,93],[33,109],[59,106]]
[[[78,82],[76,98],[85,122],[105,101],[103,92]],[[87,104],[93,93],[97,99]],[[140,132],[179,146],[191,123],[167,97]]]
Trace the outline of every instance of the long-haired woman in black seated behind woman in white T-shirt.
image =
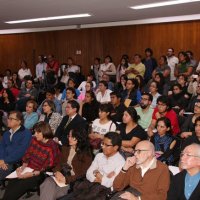
[[99,102],[96,100],[94,92],[87,91],[85,100],[80,104],[79,114],[91,124],[99,116]]

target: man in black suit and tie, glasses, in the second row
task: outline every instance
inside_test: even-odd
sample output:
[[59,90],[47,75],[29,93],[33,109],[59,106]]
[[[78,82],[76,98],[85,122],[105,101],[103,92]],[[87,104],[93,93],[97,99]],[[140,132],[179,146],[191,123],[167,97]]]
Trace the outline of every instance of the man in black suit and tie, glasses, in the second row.
[[68,135],[70,130],[74,128],[86,128],[86,121],[78,114],[79,104],[75,100],[67,102],[66,116],[63,117],[60,125],[58,126],[55,137],[62,142],[62,144],[68,143]]

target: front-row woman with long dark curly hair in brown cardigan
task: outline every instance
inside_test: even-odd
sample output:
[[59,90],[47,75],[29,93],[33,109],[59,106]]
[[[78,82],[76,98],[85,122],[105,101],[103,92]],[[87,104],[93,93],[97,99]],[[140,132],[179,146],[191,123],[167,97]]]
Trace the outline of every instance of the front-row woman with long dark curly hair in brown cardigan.
[[[66,195],[69,189],[68,184],[84,176],[92,163],[89,140],[84,129],[72,130],[68,140],[69,146],[62,147],[61,162],[53,170],[57,181],[66,184],[66,187],[59,187],[51,177],[46,178],[40,186],[41,200],[56,200]],[[67,171],[69,174],[66,173]]]

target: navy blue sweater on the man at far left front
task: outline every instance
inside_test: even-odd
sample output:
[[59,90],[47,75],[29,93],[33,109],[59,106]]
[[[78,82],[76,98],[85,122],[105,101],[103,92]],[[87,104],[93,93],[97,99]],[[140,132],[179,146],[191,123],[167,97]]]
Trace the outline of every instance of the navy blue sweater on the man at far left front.
[[0,160],[4,160],[8,164],[13,164],[21,160],[29,147],[32,135],[24,126],[21,126],[14,133],[12,140],[10,140],[10,135],[10,131],[6,131],[0,141]]

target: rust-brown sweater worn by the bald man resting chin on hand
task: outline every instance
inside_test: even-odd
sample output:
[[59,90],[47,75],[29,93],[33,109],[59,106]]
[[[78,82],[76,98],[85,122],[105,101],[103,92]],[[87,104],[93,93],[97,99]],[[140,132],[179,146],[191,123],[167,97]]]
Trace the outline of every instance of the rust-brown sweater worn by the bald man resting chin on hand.
[[121,191],[131,186],[141,192],[141,200],[166,200],[170,184],[169,170],[162,162],[155,160],[150,169],[141,176],[141,168],[130,167],[115,178],[114,190]]

